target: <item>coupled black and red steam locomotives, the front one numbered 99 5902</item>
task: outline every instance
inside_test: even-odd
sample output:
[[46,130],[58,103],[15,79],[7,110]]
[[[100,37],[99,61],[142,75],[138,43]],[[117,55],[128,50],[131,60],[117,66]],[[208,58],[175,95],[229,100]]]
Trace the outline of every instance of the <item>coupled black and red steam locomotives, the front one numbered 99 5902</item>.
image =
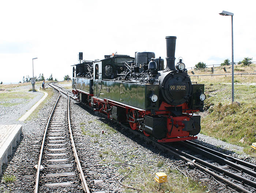
[[158,142],[197,139],[204,85],[192,84],[182,59],[175,65],[176,36],[165,39],[165,69],[164,60],[153,52],[80,60],[72,72],[77,100]]

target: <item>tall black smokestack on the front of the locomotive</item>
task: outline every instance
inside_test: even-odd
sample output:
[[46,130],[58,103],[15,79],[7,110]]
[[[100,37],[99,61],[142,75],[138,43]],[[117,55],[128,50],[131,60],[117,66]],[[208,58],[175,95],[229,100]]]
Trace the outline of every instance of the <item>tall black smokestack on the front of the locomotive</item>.
[[176,36],[166,36],[166,68],[165,70],[176,70],[175,68],[175,46]]

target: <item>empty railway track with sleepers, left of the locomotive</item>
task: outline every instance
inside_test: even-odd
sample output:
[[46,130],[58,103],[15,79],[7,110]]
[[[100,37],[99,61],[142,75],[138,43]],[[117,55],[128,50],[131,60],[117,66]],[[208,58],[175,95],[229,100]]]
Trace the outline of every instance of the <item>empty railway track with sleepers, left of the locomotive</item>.
[[[49,85],[56,87],[53,83]],[[61,92],[68,97],[62,96]],[[81,186],[84,192],[90,192],[72,135],[69,98],[67,90],[61,89],[49,116],[39,155],[35,193],[53,192],[65,187],[69,187],[70,192],[77,192]]]

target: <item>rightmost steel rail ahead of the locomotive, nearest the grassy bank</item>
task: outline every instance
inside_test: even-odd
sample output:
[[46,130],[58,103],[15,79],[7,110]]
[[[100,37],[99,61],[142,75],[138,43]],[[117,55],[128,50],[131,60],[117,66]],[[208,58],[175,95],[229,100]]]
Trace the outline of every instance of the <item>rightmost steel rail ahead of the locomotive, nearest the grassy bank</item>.
[[249,163],[249,162],[245,162],[243,160],[240,160],[240,159],[237,159],[237,158],[234,158],[234,157],[231,157],[230,155],[226,155],[226,154],[223,154],[221,152],[218,152],[218,151],[215,151],[215,150],[212,150],[208,147],[204,147],[204,146],[201,146],[199,144],[196,144],[194,142],[190,142],[190,141],[186,141],[186,143],[188,144],[192,144],[193,146],[196,146],[196,147],[199,147],[200,149],[203,149],[203,150],[206,150],[212,154],[215,154],[215,155],[218,155],[219,157],[222,157],[222,158],[225,158],[229,161],[233,161],[234,163],[237,163],[237,164],[240,164],[242,166],[245,166],[245,167],[248,167],[254,171],[256,171],[256,165],[253,165],[252,163]]

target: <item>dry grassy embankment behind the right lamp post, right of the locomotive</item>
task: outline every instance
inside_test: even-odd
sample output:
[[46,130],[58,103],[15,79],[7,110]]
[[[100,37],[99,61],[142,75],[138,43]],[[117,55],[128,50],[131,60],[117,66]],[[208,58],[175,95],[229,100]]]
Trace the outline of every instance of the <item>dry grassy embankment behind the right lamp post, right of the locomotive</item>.
[[[226,69],[231,73],[231,66]],[[212,74],[211,68],[193,71],[196,75]],[[256,73],[256,65],[235,65],[234,73]],[[215,67],[214,74],[225,72],[222,67]],[[256,142],[256,75],[234,75],[234,104],[231,104],[231,75],[191,76],[191,80],[205,84],[206,113],[201,119],[201,132],[245,147],[246,153],[255,156],[251,144]]]

